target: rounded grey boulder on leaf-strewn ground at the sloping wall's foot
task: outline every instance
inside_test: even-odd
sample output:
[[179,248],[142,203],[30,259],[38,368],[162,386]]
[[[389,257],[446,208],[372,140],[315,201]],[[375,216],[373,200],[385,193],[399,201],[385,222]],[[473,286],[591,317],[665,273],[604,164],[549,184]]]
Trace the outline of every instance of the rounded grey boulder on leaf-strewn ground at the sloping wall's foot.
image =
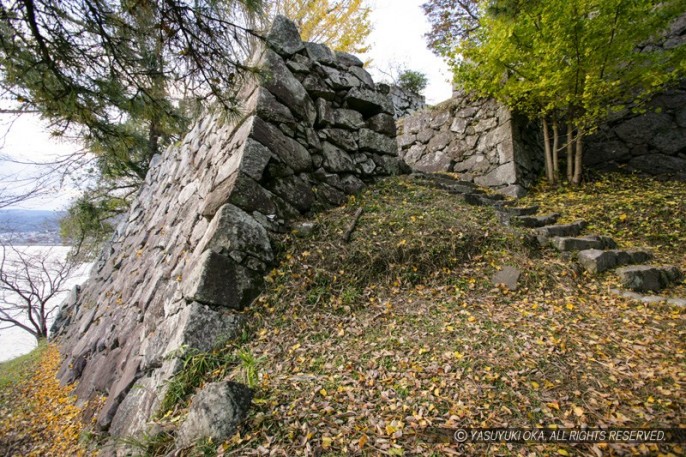
[[251,402],[252,391],[243,384],[208,384],[191,399],[188,417],[179,428],[178,445],[189,446],[202,438],[215,443],[229,439],[245,420]]

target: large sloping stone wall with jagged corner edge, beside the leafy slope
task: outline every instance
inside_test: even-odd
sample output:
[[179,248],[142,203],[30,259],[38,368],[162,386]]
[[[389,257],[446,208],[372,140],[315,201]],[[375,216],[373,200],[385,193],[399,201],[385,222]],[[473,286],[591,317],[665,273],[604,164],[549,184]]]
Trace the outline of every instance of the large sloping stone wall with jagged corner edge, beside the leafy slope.
[[398,173],[393,106],[362,62],[303,43],[278,18],[241,91],[246,115],[213,114],[156,156],[127,218],[54,334],[59,377],[103,430],[145,430],[182,351],[241,332],[272,267],[270,233]]

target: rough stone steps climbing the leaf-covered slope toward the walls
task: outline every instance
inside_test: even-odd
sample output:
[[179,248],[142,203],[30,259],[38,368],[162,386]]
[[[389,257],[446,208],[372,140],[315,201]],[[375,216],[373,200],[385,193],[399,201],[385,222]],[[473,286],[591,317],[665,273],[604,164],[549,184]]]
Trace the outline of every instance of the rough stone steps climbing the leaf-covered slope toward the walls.
[[588,223],[578,220],[569,224],[556,224],[558,213],[537,215],[537,206],[517,207],[515,202],[506,201],[502,195],[487,194],[471,182],[459,181],[448,175],[413,173],[419,184],[443,189],[461,195],[470,205],[492,206],[501,223],[534,231],[541,246],[551,246],[563,253],[576,255],[577,262],[589,273],[598,274],[615,269],[622,285],[631,292],[612,292],[645,303],[666,301],[677,306],[686,306],[686,299],[668,298],[656,295],[642,295],[657,292],[683,278],[683,273],[673,265],[646,265],[652,254],[639,249],[618,249],[617,243],[605,235],[582,235]]

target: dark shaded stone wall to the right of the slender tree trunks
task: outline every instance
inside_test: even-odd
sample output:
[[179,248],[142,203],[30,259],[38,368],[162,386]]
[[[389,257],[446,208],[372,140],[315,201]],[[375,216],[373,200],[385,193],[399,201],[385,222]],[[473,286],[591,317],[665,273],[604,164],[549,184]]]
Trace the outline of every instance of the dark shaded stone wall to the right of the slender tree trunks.
[[686,81],[654,97],[645,114],[615,115],[585,149],[589,167],[686,179]]

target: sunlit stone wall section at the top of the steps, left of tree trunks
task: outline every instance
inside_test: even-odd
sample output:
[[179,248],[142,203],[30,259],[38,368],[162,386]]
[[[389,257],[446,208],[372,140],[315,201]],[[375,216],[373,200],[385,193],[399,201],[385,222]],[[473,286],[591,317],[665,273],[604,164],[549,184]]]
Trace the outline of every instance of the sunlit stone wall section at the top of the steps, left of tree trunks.
[[542,166],[540,146],[525,121],[494,100],[461,92],[398,122],[400,157],[412,169],[455,172],[461,179],[521,196]]

